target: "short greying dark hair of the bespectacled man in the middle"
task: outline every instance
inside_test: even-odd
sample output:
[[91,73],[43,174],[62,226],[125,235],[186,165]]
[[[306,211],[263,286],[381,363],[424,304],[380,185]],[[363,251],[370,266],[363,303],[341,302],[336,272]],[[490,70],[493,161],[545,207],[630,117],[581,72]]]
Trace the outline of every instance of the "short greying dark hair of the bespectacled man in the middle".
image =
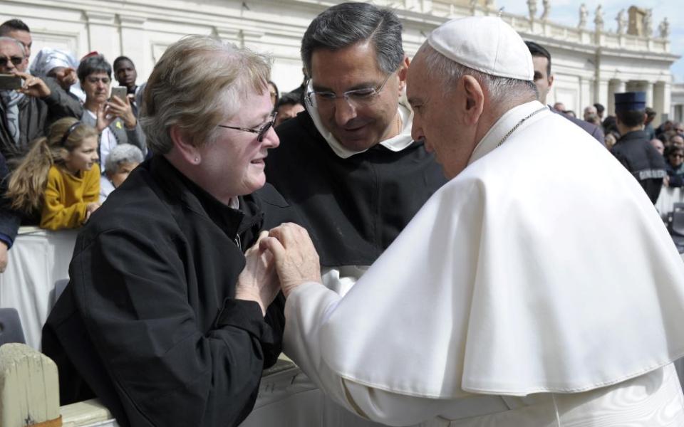
[[378,68],[392,73],[404,58],[401,44],[401,21],[389,9],[368,3],[341,3],[332,6],[311,21],[301,39],[301,60],[311,77],[311,56],[316,49],[336,51],[371,39]]

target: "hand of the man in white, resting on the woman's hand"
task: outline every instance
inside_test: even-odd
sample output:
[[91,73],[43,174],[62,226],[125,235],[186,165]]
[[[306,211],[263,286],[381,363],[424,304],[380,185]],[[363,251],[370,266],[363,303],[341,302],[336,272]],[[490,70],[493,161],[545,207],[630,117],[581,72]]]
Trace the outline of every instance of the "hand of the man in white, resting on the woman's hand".
[[305,282],[321,283],[321,265],[309,233],[294,223],[283,223],[261,240],[261,248],[274,257],[285,297]]

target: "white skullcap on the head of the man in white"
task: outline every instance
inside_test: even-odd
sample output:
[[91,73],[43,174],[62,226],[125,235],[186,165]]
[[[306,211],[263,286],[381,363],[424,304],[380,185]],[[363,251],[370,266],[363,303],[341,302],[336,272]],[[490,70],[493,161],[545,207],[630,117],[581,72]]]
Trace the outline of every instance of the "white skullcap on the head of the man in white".
[[494,16],[452,19],[427,37],[435,51],[461,65],[499,77],[532,81],[532,55],[511,26]]

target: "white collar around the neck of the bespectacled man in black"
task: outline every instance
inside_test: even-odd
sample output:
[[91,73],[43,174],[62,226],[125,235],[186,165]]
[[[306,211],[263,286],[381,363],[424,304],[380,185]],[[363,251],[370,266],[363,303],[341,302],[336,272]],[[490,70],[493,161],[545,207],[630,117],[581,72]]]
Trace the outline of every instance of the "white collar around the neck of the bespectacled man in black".
[[[311,82],[309,82],[309,86],[306,88],[306,90],[307,92],[314,90],[311,87]],[[315,102],[315,98],[313,99],[313,101]],[[333,152],[338,155],[338,157],[341,157],[342,159],[347,159],[348,157],[351,157],[354,154],[363,153],[368,150],[362,149],[361,151],[353,151],[351,149],[344,147],[333,136],[333,134],[329,132],[325,126],[323,126],[321,116],[318,115],[318,109],[316,108],[316,106],[309,105],[309,102],[304,102],[304,107],[306,108],[306,111],[309,112],[309,115],[311,115],[311,120],[314,120],[314,125],[316,125],[316,130],[318,130],[318,133],[320,133],[321,136],[324,139],[326,139],[326,142],[328,142],[328,145],[333,150]],[[395,137],[391,137],[390,139],[385,139],[384,141],[379,142],[380,145],[387,149],[390,149],[393,152],[400,152],[401,150],[408,147],[411,144],[411,142],[413,142],[413,138],[411,137],[411,123],[413,123],[413,110],[411,110],[411,108],[409,107],[405,94],[403,94],[399,98],[398,112],[401,117],[401,122],[403,123],[401,133]]]

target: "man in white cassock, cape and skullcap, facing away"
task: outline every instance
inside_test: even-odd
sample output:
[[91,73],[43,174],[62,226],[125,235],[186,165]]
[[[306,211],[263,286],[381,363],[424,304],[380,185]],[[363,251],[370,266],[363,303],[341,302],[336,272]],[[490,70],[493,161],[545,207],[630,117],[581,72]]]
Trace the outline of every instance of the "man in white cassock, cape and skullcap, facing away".
[[413,137],[450,182],[340,297],[304,229],[271,230],[285,351],[359,416],[405,426],[684,426],[684,263],[638,182],[536,100],[501,19],[410,65]]

